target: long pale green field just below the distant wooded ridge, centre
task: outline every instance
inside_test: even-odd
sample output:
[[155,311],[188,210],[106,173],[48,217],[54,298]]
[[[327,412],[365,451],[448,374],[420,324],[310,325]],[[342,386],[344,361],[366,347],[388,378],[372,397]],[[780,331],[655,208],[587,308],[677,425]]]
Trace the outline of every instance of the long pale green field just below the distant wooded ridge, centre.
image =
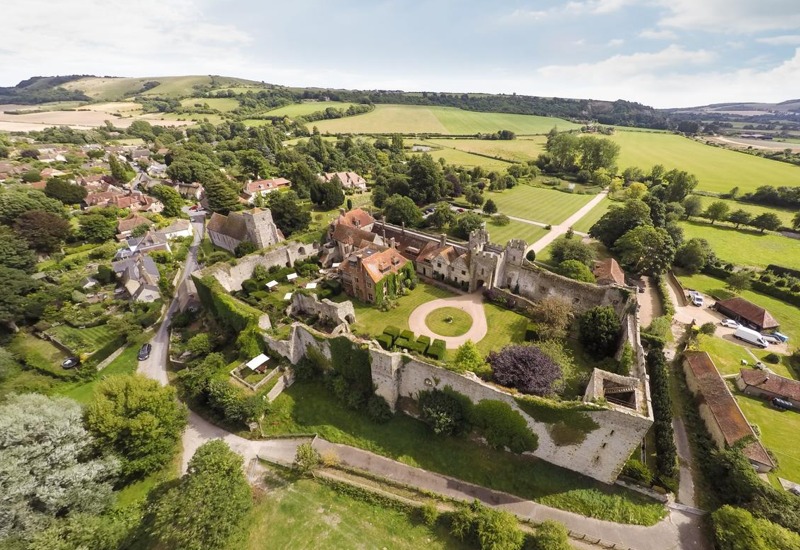
[[322,133],[431,133],[475,134],[511,130],[517,134],[545,134],[553,126],[568,130],[577,128],[566,120],[533,115],[479,113],[455,107],[424,107],[418,105],[376,105],[375,110],[353,117],[320,120],[310,123]]

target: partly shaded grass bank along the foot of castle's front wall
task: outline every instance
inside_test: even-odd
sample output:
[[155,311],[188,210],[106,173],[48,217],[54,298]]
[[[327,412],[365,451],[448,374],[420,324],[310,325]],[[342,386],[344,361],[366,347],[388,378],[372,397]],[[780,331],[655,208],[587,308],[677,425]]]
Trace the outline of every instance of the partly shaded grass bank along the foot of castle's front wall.
[[318,433],[328,441],[589,517],[653,525],[665,515],[663,505],[633,492],[533,457],[496,451],[463,438],[437,436],[409,416],[397,415],[388,423],[375,424],[364,414],[342,407],[318,383],[296,382],[284,391],[274,401],[263,429],[276,435]]

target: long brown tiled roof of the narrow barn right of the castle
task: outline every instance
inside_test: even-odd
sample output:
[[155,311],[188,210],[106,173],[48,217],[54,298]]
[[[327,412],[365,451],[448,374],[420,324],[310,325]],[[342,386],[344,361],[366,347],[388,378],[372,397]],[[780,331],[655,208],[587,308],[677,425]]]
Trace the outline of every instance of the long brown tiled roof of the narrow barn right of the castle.
[[[745,437],[755,437],[753,428],[719,375],[711,357],[704,351],[687,351],[684,362],[692,371],[700,398],[711,411],[725,443],[731,446]],[[747,445],[744,454],[751,460],[774,467],[767,451],[757,441]]]

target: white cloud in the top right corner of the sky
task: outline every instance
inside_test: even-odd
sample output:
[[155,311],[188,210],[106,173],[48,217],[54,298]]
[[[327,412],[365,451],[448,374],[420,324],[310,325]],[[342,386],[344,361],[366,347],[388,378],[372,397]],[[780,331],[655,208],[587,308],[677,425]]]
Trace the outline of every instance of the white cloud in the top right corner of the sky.
[[658,0],[667,14],[660,27],[756,33],[800,27],[797,0]]

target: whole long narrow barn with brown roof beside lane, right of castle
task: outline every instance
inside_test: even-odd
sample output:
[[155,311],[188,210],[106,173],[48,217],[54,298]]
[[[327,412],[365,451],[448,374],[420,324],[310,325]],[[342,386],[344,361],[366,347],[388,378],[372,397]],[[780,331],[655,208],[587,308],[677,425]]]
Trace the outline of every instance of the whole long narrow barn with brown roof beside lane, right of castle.
[[717,447],[730,448],[741,439],[752,438],[742,452],[757,471],[773,470],[775,463],[758,441],[711,357],[704,351],[687,351],[683,370],[689,390],[698,399],[700,417]]

